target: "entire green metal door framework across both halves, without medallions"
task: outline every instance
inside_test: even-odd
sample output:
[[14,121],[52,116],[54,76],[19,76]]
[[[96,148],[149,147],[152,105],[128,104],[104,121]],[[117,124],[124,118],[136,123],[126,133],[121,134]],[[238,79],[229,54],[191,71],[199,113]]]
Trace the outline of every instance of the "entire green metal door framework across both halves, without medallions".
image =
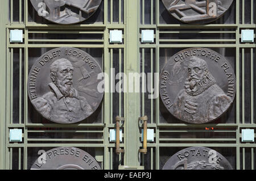
[[[206,25],[190,25],[190,24],[168,24],[161,23],[160,7],[161,0],[102,0],[103,20],[91,24],[75,24],[71,26],[44,24],[31,22],[28,18],[28,11],[31,10],[29,0],[5,0],[0,7],[0,52],[2,54],[0,86],[2,91],[0,94],[0,169],[30,169],[31,149],[34,148],[53,148],[56,146],[77,146],[85,149],[94,149],[96,157],[103,169],[118,169],[118,165],[129,167],[144,166],[146,169],[161,169],[160,162],[163,157],[164,149],[184,148],[188,146],[208,146],[211,148],[232,149],[236,169],[246,169],[250,165],[251,169],[255,169],[255,147],[254,143],[241,142],[241,129],[255,129],[254,111],[250,111],[250,120],[246,120],[246,107],[248,106],[246,95],[246,87],[250,87],[250,110],[254,110],[254,79],[255,68],[250,66],[250,75],[247,75],[246,64],[250,62],[255,64],[256,45],[254,43],[241,43],[241,30],[253,28],[255,26],[255,1],[253,0],[234,0],[235,20],[232,24],[206,24]],[[9,10],[10,2],[10,10]],[[118,2],[118,6],[117,5]],[[240,3],[241,2],[241,3]],[[245,16],[246,5],[250,2],[250,14]],[[122,6],[123,4],[123,6]],[[14,5],[19,7],[19,13],[14,12]],[[118,11],[117,11],[118,9]],[[10,20],[8,14],[10,12]],[[24,13],[22,13],[24,12]],[[16,13],[16,14],[14,14]],[[18,18],[16,17],[18,16]],[[114,19],[118,16],[118,20]],[[16,19],[15,19],[16,17]],[[123,18],[121,18],[123,17]],[[248,22],[246,17],[250,17]],[[171,18],[171,16],[170,16]],[[10,30],[23,30],[24,43],[10,43]],[[61,28],[61,31],[60,31]],[[122,44],[109,43],[110,30],[123,31]],[[155,31],[155,43],[140,43],[142,29],[150,29]],[[200,29],[200,31],[198,31]],[[67,33],[79,35],[97,34],[102,38],[92,39],[36,39],[36,36],[43,35],[47,37],[54,33]],[[200,33],[201,39],[171,39],[168,34],[172,35],[189,35]],[[212,39],[204,37],[205,34],[220,33],[223,37],[220,39]],[[163,35],[167,36],[163,39]],[[229,35],[231,38],[226,38]],[[255,35],[254,35],[255,36]],[[46,44],[47,42],[47,44]],[[115,68],[118,64],[118,71],[129,73],[146,72],[150,69],[151,73],[159,73],[161,66],[161,58],[163,49],[188,48],[188,47],[206,47],[206,48],[232,48],[234,50],[234,65],[237,77],[237,93],[234,107],[236,112],[234,123],[220,124],[182,124],[182,123],[162,123],[160,121],[160,100],[148,101],[146,94],[142,93],[124,93],[118,94],[105,92],[102,103],[101,123],[80,123],[72,125],[60,124],[42,124],[30,123],[28,119],[30,115],[29,100],[27,99],[26,87],[28,65],[30,61],[30,52],[32,48],[56,48],[56,47],[77,47],[90,48],[102,51],[102,69],[110,75],[110,69]],[[248,53],[249,52],[249,53]],[[16,54],[18,53],[18,57]],[[249,59],[247,54],[249,54]],[[40,55],[39,55],[40,56]],[[117,57],[117,58],[116,58]],[[141,57],[141,61],[140,61]],[[18,58],[18,59],[17,59]],[[14,68],[16,66],[14,60],[18,60],[19,78],[14,76]],[[117,73],[117,71],[116,71]],[[24,77],[23,79],[21,77]],[[111,76],[111,75],[110,75]],[[109,76],[109,81],[110,77]],[[247,77],[246,77],[247,76]],[[245,82],[250,77],[250,81]],[[241,78],[240,78],[241,77]],[[151,77],[151,81],[152,81]],[[127,83],[129,79],[127,80]],[[18,110],[14,104],[15,83],[19,83],[18,87]],[[247,85],[249,84],[249,86]],[[143,85],[143,84],[142,84]],[[152,85],[151,85],[152,87]],[[241,87],[241,89],[240,89]],[[140,89],[144,87],[141,86]],[[135,89],[135,87],[134,87]],[[115,102],[115,98],[118,101]],[[123,140],[121,147],[125,149],[125,154],[115,154],[114,142],[109,142],[109,129],[114,129],[115,121],[113,117],[115,104],[118,104],[117,113],[119,116],[125,117],[125,123],[122,125]],[[23,109],[22,109],[23,107]],[[13,111],[18,111],[18,121],[13,116]],[[150,110],[148,112],[148,110]],[[148,142],[147,155],[139,154],[138,150],[142,147],[141,124],[138,124],[138,118],[148,113],[150,123],[148,128],[155,130],[155,141]],[[139,125],[139,127],[138,127]],[[213,127],[214,130],[205,130],[205,127]],[[9,129],[23,129],[23,142],[10,143]],[[46,129],[47,128],[47,129]],[[97,138],[69,138],[66,140],[61,136],[55,138],[31,137],[31,135],[41,134],[95,134]],[[210,133],[210,134],[209,134]],[[179,134],[179,137],[172,137],[172,134]],[[193,134],[195,137],[185,137]],[[197,137],[196,135],[205,134],[208,136]],[[163,136],[165,135],[165,136]],[[166,136],[167,135],[167,136]],[[211,136],[209,136],[211,135]],[[218,138],[212,137],[222,135]],[[231,135],[228,137],[227,135]],[[64,141],[64,142],[63,142]],[[231,154],[231,153],[230,153]],[[250,157],[250,163],[247,163],[246,157]],[[13,158],[18,157],[18,164],[13,165]],[[102,158],[103,157],[103,158]],[[138,159],[139,158],[139,159]],[[254,164],[253,164],[254,163]],[[18,166],[18,167],[17,167]]]

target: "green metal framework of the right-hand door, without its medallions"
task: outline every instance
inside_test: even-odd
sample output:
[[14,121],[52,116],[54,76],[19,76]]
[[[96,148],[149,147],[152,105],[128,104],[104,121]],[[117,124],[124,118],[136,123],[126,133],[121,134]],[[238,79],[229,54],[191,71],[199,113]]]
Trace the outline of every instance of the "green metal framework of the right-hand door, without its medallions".
[[[241,2],[241,6],[240,6]],[[249,17],[251,18],[250,23],[245,22],[245,6],[248,6],[248,3],[250,2],[250,14]],[[144,62],[149,61],[149,59],[144,59],[145,57],[145,52],[147,49],[150,49],[151,51],[151,56],[152,56],[152,49],[155,50],[156,52],[156,65],[155,68],[151,68],[151,72],[157,72],[160,73],[159,69],[159,56],[160,56],[160,49],[164,48],[189,48],[189,47],[208,47],[208,48],[233,48],[236,49],[236,54],[235,54],[235,61],[236,61],[236,77],[237,77],[237,97],[236,97],[236,102],[234,104],[236,107],[236,120],[234,123],[229,124],[229,123],[221,123],[221,124],[200,124],[200,125],[193,125],[193,124],[179,124],[179,123],[161,123],[160,122],[160,107],[159,107],[159,98],[156,100],[154,103],[154,106],[152,106],[152,102],[145,103],[144,102],[144,97],[142,97],[142,112],[144,112],[145,107],[150,107],[150,112],[152,115],[152,112],[155,113],[155,117],[151,116],[151,119],[156,120],[156,124],[151,122],[152,124],[149,124],[148,126],[150,128],[155,129],[155,142],[154,143],[148,143],[149,149],[153,151],[155,161],[153,156],[151,155],[151,165],[147,168],[152,168],[152,163],[155,163],[156,169],[160,169],[160,161],[162,155],[160,153],[160,150],[163,148],[181,148],[181,147],[188,147],[188,146],[209,146],[213,148],[221,148],[221,147],[226,147],[226,148],[234,148],[236,149],[236,155],[234,155],[236,159],[236,169],[245,169],[246,164],[251,164],[251,169],[254,169],[253,163],[255,163],[255,143],[249,143],[249,144],[243,144],[241,142],[241,129],[243,128],[252,128],[255,129],[255,119],[254,119],[254,76],[255,76],[255,70],[254,70],[254,61],[255,59],[253,58],[253,54],[255,53],[255,41],[253,44],[244,44],[240,42],[241,39],[241,30],[246,29],[246,28],[253,28],[255,32],[255,12],[253,11],[253,7],[255,7],[255,1],[246,1],[245,0],[235,0],[233,3],[236,7],[236,20],[234,24],[206,24],[206,25],[191,25],[191,24],[163,24],[160,23],[160,3],[161,0],[156,0],[156,6],[151,7],[151,16],[150,19],[145,20],[146,14],[145,11],[149,11],[144,9],[145,5],[144,3],[148,3],[148,1],[141,0],[141,8],[142,8],[142,15],[141,15],[141,24],[139,26],[140,30],[143,29],[151,29],[155,30],[155,43],[154,44],[139,44],[139,49],[141,49],[141,57],[142,57],[142,72],[144,71]],[[151,2],[152,4],[152,2]],[[154,8],[154,10],[152,10]],[[155,19],[156,23],[154,22],[154,19],[152,18],[152,11],[155,12]],[[241,22],[240,22],[240,16],[241,16]],[[248,16],[246,16],[248,17]],[[225,28],[225,29],[224,29]],[[200,29],[200,31],[198,31]],[[160,35],[167,34],[167,33],[172,33],[172,34],[180,34],[180,33],[185,33],[186,35],[189,35],[189,33],[201,33],[202,38],[201,39],[163,39],[160,37]],[[204,38],[203,33],[230,33],[235,35],[234,38],[232,39],[209,39],[209,38]],[[141,36],[141,35],[140,35]],[[255,37],[255,35],[254,35]],[[245,49],[249,50],[250,52],[250,59],[246,60],[245,59]],[[149,50],[148,50],[149,51]],[[240,58],[240,52],[241,52],[241,58]],[[152,64],[152,58],[151,58],[151,64]],[[246,104],[246,90],[245,90],[245,61],[250,61],[251,67],[250,67],[250,109],[251,109],[251,120],[250,123],[245,123],[245,104]],[[241,65],[241,66],[240,66]],[[242,71],[241,71],[242,70]],[[241,75],[240,75],[241,74]],[[241,81],[240,81],[240,76],[241,76]],[[242,87],[240,91],[240,87]],[[247,86],[248,87],[248,86]],[[143,96],[143,95],[142,95]],[[240,99],[242,98],[242,99]],[[241,102],[242,101],[242,102]],[[242,113],[242,119],[240,119],[240,110]],[[143,114],[141,115],[143,116]],[[192,133],[194,135],[198,134],[199,132],[201,133],[209,133],[209,131],[204,130],[205,127],[213,127],[214,130],[211,132],[213,133],[220,133],[221,128],[226,128],[225,133],[232,132],[236,133],[233,134],[234,136],[232,138],[212,138],[212,137],[204,137],[204,138],[182,138],[185,136],[187,133]],[[179,133],[180,138],[173,138],[169,136],[168,138],[163,138],[161,134],[163,133]],[[189,134],[191,135],[191,134]],[[177,142],[179,141],[179,142]],[[205,143],[201,143],[204,141]],[[141,145],[142,146],[142,145]],[[245,148],[251,148],[251,156],[250,156],[250,161],[251,163],[245,163]],[[240,159],[242,163],[240,162]],[[147,161],[148,162],[148,161]],[[142,163],[142,165],[145,165],[146,163]],[[242,168],[240,167],[242,165]],[[146,167],[146,165],[145,165]]]

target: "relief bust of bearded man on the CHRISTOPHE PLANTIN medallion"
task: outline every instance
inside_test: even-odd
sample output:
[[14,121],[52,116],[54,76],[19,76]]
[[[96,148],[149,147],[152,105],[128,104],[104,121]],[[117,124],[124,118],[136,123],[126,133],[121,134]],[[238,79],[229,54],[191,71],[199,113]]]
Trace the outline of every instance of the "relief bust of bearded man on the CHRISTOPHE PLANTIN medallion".
[[207,62],[193,56],[188,60],[189,77],[174,101],[174,115],[188,123],[207,123],[224,113],[232,100],[216,84]]

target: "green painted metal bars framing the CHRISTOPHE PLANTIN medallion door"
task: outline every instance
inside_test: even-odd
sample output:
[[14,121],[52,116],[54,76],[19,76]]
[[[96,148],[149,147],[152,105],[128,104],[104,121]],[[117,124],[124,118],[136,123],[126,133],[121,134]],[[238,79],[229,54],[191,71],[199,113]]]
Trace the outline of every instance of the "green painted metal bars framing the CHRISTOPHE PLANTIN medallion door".
[[[246,29],[246,28],[253,28],[254,32],[256,30],[256,25],[253,22],[253,19],[256,19],[255,17],[255,12],[253,11],[253,6],[256,6],[255,1],[251,0],[251,23],[250,24],[245,24],[245,0],[234,0],[233,3],[235,3],[236,6],[236,24],[207,24],[207,25],[202,25],[202,26],[197,26],[197,25],[191,25],[191,24],[160,24],[159,23],[159,3],[161,0],[155,0],[156,6],[155,9],[152,6],[153,1],[151,0],[151,17],[150,17],[150,24],[145,24],[144,22],[144,2],[146,0],[141,0],[142,2],[142,20],[141,24],[139,26],[140,30],[145,30],[145,29],[151,29],[155,30],[155,43],[154,44],[144,44],[141,43],[139,44],[139,49],[142,49],[142,66],[144,66],[144,61],[149,61],[149,60],[144,60],[144,49],[150,49],[151,50],[151,64],[153,61],[152,58],[152,49],[155,50],[155,60],[156,60],[156,67],[155,70],[152,69],[151,67],[151,73],[160,73],[159,70],[159,49],[160,48],[190,48],[190,47],[206,47],[206,48],[215,48],[215,47],[221,47],[221,48],[235,48],[236,49],[236,77],[237,77],[237,93],[236,93],[236,123],[234,124],[199,124],[199,125],[193,125],[193,124],[163,124],[159,122],[159,98],[156,100],[155,103],[155,120],[152,120],[152,124],[148,124],[149,128],[155,129],[155,142],[154,143],[148,143],[148,148],[151,150],[151,165],[150,169],[160,169],[160,149],[161,148],[168,148],[168,147],[189,147],[189,146],[208,146],[208,147],[227,147],[227,148],[236,148],[236,169],[245,169],[245,148],[251,148],[251,169],[255,169],[253,164],[256,163],[256,160],[254,158],[254,153],[256,149],[256,144],[253,143],[242,143],[241,142],[241,129],[242,128],[256,128],[256,124],[254,122],[254,115],[253,115],[253,110],[255,109],[254,106],[254,73],[255,70],[253,69],[253,66],[251,66],[251,124],[245,124],[245,69],[244,69],[244,50],[250,49],[251,51],[251,57],[250,57],[250,62],[253,63],[255,60],[253,59],[253,50],[256,50],[256,45],[255,41],[253,44],[245,44],[241,43],[241,33],[240,30]],[[242,1],[242,7],[240,7],[240,1]],[[242,23],[240,23],[240,11],[242,10]],[[155,11],[155,22],[154,22],[154,17],[152,16],[152,12]],[[197,28],[203,29],[205,31],[200,31],[198,33],[235,33],[236,37],[234,39],[185,39],[185,40],[161,40],[160,39],[160,33],[193,33],[193,30],[196,30]],[[220,29],[220,28],[225,28],[225,29],[230,29],[226,31],[217,31],[212,29]],[[170,29],[170,31],[162,31],[162,29]],[[189,30],[188,30],[189,29]],[[140,35],[141,37],[141,35]],[[255,37],[255,35],[254,35]],[[168,44],[167,42],[175,42],[179,41],[179,44]],[[205,44],[193,44],[192,42],[205,42]],[[165,43],[166,42],[166,43]],[[184,42],[184,44],[180,44],[180,42]],[[211,42],[218,42],[218,44],[210,44]],[[224,43],[225,42],[225,43]],[[228,43],[226,43],[228,42]],[[187,44],[186,44],[187,43]],[[242,60],[240,60],[240,50],[242,50]],[[242,61],[242,83],[240,83],[240,61]],[[253,65],[253,64],[252,64]],[[144,68],[142,67],[142,72]],[[242,86],[242,94],[240,92],[240,87]],[[242,123],[240,123],[240,96],[242,96]],[[142,102],[144,102],[144,98],[142,96]],[[144,103],[142,103],[144,104]],[[151,107],[151,115],[152,112],[154,112],[153,109],[153,103],[151,102],[151,105],[146,105]],[[145,105],[142,105],[142,115],[144,113],[144,107]],[[151,116],[152,117],[152,116]],[[154,123],[155,122],[155,123]],[[229,128],[230,132],[236,132],[236,137],[234,138],[160,138],[160,133],[163,132],[177,132],[180,133],[181,135],[183,133],[188,133],[188,132],[209,132],[209,131],[198,131],[196,129],[198,128],[205,128],[205,127],[213,127],[213,128]],[[164,130],[163,130],[164,128]],[[166,129],[172,128],[171,130],[166,131]],[[195,130],[189,131],[189,130],[180,130],[177,129],[175,131],[175,128],[193,128]],[[213,130],[212,132],[220,132],[218,130]],[[181,141],[181,143],[164,143],[163,141]],[[184,143],[182,143],[182,141]],[[209,141],[210,143],[188,143],[187,141]],[[214,143],[216,141],[225,141],[225,143]],[[233,141],[233,143],[229,143],[229,141]],[[141,144],[142,146],[142,144]],[[155,151],[153,151],[153,149]],[[240,151],[242,149],[242,167],[240,167]],[[152,155],[153,154],[153,155]],[[153,165],[153,157],[155,157],[155,165]],[[142,161],[141,165],[144,165],[144,162]]]

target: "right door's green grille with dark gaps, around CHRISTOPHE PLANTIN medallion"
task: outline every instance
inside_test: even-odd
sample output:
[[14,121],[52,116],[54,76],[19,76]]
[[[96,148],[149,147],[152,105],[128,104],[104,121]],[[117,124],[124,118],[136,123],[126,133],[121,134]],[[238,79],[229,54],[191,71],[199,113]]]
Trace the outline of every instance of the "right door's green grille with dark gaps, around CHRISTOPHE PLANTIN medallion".
[[224,155],[233,169],[255,169],[256,144],[241,141],[242,129],[256,127],[255,43],[241,43],[241,30],[250,28],[255,32],[255,1],[234,0],[224,16],[203,26],[178,22],[168,14],[161,0],[141,0],[140,7],[140,32],[146,29],[155,32],[155,43],[139,44],[142,73],[160,73],[168,58],[179,50],[205,47],[225,56],[237,77],[233,107],[222,119],[210,124],[184,124],[164,110],[160,98],[146,100],[142,94],[141,116],[150,117],[148,128],[155,130],[155,141],[148,143],[149,154],[141,155],[141,165],[145,169],[162,169],[177,151],[206,146]]

